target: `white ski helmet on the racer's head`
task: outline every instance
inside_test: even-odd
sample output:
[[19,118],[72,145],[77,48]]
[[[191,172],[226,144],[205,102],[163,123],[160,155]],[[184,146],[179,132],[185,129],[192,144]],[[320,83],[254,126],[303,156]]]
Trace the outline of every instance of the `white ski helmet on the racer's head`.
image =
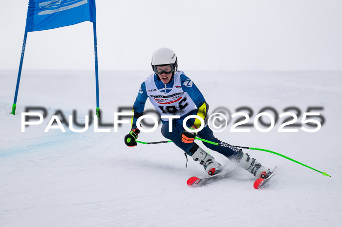
[[155,72],[154,66],[162,66],[162,65],[169,65],[172,64],[173,66],[173,73],[177,71],[177,56],[176,54],[169,48],[163,47],[156,51],[154,51],[151,59],[151,66],[153,69],[153,72]]

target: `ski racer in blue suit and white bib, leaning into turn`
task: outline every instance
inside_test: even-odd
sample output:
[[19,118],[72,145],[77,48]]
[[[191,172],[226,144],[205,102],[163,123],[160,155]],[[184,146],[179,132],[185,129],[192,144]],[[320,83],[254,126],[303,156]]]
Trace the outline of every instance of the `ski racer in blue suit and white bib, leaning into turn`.
[[[172,119],[172,131],[169,132],[169,120],[162,118],[161,132],[164,137],[191,156],[209,175],[220,172],[223,168],[215,161],[214,157],[204,151],[196,143],[195,136],[215,143],[229,145],[214,137],[213,131],[206,124],[199,132],[189,132],[183,128],[183,119],[189,115],[197,115],[206,120],[209,105],[204,99],[196,85],[185,76],[183,71],[177,71],[177,56],[169,48],[156,50],[152,55],[151,65],[154,74],[149,76],[141,84],[138,96],[133,106],[133,119],[131,131],[125,136],[125,144],[128,147],[137,145],[136,139],[140,130],[136,126],[137,119],[143,115],[147,98],[156,109],[159,115],[179,115],[180,118]],[[198,129],[201,122],[197,118],[191,118],[186,122],[190,129]],[[271,173],[266,170],[256,159],[249,154],[235,148],[221,147],[203,142],[203,144],[214,151],[217,151],[237,165],[248,170],[257,178],[267,178]]]

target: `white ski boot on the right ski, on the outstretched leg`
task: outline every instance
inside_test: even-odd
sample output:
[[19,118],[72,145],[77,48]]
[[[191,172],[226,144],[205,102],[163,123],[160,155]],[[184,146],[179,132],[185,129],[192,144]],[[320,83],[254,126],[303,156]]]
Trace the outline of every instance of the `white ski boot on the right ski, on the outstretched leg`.
[[272,173],[269,169],[266,170],[255,158],[251,158],[248,153],[243,153],[241,149],[235,155],[234,161],[257,178],[266,179]]

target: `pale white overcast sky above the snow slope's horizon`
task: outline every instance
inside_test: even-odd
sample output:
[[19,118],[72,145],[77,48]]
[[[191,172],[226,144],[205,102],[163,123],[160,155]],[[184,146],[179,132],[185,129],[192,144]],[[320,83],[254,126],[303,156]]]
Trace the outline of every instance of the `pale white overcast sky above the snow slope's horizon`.
[[[0,69],[18,69],[28,0],[1,2]],[[96,0],[100,70],[342,70],[342,0]],[[25,69],[94,69],[89,21],[28,34]]]

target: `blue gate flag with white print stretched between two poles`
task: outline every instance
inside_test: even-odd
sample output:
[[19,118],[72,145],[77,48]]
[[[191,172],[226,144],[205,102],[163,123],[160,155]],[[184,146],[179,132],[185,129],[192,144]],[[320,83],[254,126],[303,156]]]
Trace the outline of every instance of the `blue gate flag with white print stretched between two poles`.
[[95,0],[29,0],[26,32],[96,22]]

